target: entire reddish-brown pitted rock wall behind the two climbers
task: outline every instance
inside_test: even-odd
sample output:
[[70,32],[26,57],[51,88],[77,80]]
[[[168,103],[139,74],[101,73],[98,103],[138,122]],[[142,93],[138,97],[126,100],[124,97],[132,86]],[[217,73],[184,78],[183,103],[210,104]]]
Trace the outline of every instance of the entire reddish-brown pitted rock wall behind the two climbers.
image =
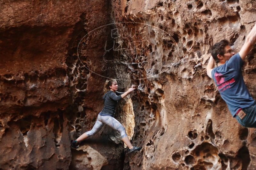
[[[2,169],[256,168],[255,130],[206,75],[210,45],[243,45],[253,0],[5,1],[0,11]],[[255,52],[243,68],[254,98]],[[70,149],[95,123],[106,78],[138,86],[116,118],[139,152],[125,155],[105,127]]]

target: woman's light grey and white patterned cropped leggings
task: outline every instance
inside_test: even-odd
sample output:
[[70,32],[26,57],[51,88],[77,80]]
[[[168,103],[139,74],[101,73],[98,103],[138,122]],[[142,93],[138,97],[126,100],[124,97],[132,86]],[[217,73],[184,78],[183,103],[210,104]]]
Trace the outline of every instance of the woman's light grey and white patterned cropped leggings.
[[88,135],[88,137],[92,136],[95,133],[97,133],[103,127],[104,124],[110,126],[114,130],[119,131],[122,138],[127,136],[127,134],[125,132],[125,128],[123,127],[123,125],[120,124],[120,122],[118,122],[114,117],[100,116],[100,114],[98,114],[97,121],[95,122],[92,130],[87,131],[85,133]]

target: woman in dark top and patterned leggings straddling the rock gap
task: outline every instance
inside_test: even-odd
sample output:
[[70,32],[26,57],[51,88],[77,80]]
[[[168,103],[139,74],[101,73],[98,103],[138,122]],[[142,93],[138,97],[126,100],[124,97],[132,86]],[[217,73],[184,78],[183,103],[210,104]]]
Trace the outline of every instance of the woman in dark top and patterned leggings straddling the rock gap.
[[117,105],[118,101],[120,101],[125,96],[130,94],[135,89],[135,86],[133,85],[132,88],[129,88],[128,91],[123,92],[123,93],[118,92],[117,89],[118,89],[118,85],[117,85],[117,81],[115,79],[107,80],[105,82],[104,96],[103,96],[103,100],[104,100],[103,110],[98,114],[97,121],[94,124],[92,130],[83,133],[79,138],[74,140],[71,144],[71,147],[78,148],[79,143],[82,140],[94,135],[103,127],[104,124],[107,124],[112,129],[120,132],[123,142],[129,148],[129,152],[134,152],[134,151],[140,150],[142,148],[142,147],[133,146],[131,144],[131,142],[128,139],[127,134],[125,132],[125,128],[123,127],[122,124],[120,124],[120,122],[118,122],[114,118],[114,114],[116,111],[116,105]]

